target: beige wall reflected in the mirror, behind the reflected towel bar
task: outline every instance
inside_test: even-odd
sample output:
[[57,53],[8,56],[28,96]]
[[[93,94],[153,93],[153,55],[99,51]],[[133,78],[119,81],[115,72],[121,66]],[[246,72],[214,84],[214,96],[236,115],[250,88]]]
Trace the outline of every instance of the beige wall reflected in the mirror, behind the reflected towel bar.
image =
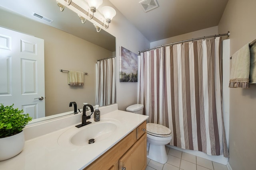
[[[5,16],[0,25],[44,39],[46,116],[72,111],[73,101],[78,108],[83,102],[95,105],[96,60],[112,56],[112,51],[36,21],[0,14]],[[68,74],[60,69],[88,72],[84,86],[69,86]]]

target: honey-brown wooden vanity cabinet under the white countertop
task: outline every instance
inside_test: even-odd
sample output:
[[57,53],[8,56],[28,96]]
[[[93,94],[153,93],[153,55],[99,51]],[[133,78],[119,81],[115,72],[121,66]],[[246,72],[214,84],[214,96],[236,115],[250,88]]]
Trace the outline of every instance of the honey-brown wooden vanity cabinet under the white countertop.
[[146,121],[84,170],[145,170],[147,162]]

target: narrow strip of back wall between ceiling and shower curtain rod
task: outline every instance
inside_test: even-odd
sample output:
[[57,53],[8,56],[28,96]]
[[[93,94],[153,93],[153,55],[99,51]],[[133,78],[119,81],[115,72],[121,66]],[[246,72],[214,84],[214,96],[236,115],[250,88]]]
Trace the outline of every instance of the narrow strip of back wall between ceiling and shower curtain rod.
[[[227,33],[227,32],[225,32],[225,33]],[[210,28],[201,29],[198,31],[182,34],[182,35],[177,35],[175,37],[170,37],[170,38],[166,38],[166,39],[161,39],[159,41],[151,42],[150,48],[158,47],[160,45],[175,43],[175,42],[182,41],[182,40],[199,38],[199,37],[204,37],[204,36],[209,36],[209,35],[217,35],[217,34],[218,34],[218,26],[210,27]]]

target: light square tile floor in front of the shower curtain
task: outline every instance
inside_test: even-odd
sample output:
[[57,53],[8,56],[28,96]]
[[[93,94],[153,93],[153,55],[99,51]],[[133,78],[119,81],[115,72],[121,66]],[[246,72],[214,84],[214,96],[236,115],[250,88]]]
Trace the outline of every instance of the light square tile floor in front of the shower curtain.
[[228,170],[227,166],[166,147],[168,160],[160,164],[147,158],[146,170]]

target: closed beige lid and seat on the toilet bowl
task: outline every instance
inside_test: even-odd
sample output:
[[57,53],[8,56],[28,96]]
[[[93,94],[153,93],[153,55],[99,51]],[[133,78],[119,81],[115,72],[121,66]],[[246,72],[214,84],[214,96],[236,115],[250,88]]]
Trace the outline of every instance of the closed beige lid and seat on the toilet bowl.
[[169,137],[172,135],[172,131],[168,127],[156,123],[147,123],[147,133],[157,137]]

